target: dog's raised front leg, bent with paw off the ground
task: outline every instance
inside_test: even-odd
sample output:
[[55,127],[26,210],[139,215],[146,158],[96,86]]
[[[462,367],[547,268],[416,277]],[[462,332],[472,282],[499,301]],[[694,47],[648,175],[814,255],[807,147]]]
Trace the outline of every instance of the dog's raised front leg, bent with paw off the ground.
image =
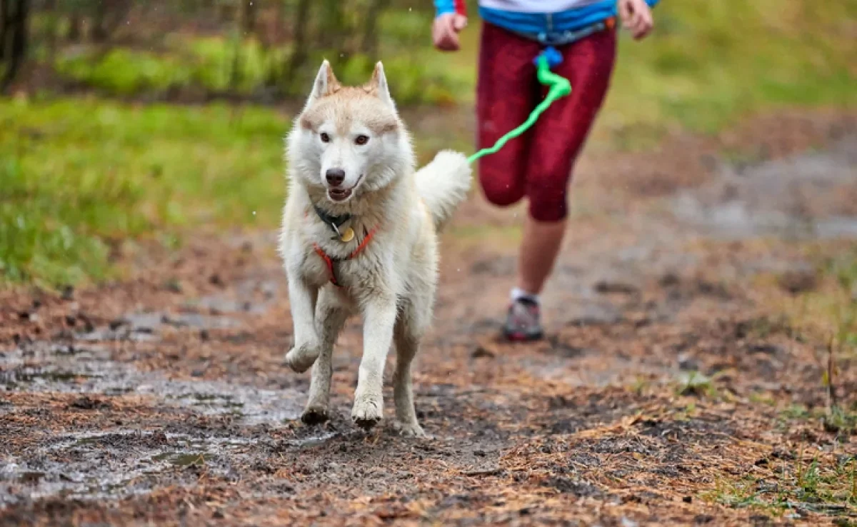
[[291,320],[295,325],[295,344],[285,354],[285,364],[297,373],[305,372],[318,358],[320,347],[315,333],[315,301],[318,288],[300,276],[289,278]]

